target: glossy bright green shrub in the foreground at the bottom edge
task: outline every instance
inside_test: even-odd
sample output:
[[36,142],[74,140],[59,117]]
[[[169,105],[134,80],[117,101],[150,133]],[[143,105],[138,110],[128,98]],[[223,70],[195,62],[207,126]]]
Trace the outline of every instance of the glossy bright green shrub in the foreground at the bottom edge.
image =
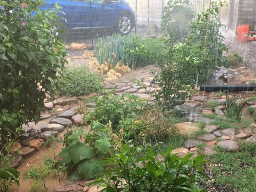
[[[105,186],[103,192],[112,191],[200,191],[195,187],[196,172],[206,176],[202,171],[203,155],[190,160],[193,154],[183,158],[176,154],[171,155],[172,148],[169,148],[162,155],[162,162],[155,157],[153,151],[148,148],[145,156],[139,157],[136,148],[123,146],[118,154],[112,158],[106,158],[104,165],[111,165],[106,169],[101,178],[90,184],[98,183]],[[144,166],[143,166],[144,165]]]

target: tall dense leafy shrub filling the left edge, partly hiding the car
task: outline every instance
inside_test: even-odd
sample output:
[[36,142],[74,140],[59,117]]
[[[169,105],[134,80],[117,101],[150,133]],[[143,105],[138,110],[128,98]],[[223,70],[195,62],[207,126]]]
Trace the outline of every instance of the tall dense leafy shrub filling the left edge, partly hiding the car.
[[40,11],[43,3],[0,1],[0,128],[5,133],[40,120],[45,93],[53,98],[50,79],[55,82],[67,63],[54,30],[60,7]]

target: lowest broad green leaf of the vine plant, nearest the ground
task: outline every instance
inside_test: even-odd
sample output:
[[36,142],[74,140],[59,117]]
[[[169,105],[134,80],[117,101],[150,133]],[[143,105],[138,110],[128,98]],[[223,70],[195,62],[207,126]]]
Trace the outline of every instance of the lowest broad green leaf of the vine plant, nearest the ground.
[[87,160],[80,163],[77,169],[84,179],[90,180],[102,171],[102,163],[98,159]]

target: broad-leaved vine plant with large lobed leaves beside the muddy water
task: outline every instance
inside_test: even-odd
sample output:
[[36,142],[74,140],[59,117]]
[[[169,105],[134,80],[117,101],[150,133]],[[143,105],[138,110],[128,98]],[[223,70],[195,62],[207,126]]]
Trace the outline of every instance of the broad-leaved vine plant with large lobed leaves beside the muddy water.
[[[111,123],[106,127],[97,121],[92,121],[88,132],[84,133],[80,128],[65,135],[66,147],[62,149],[59,157],[62,159],[60,163],[64,163],[67,167],[70,178],[90,180],[102,171],[100,159],[110,153],[112,148],[110,141],[116,138],[110,130]],[[80,136],[83,136],[84,142],[78,139]],[[117,145],[117,143],[113,144]]]

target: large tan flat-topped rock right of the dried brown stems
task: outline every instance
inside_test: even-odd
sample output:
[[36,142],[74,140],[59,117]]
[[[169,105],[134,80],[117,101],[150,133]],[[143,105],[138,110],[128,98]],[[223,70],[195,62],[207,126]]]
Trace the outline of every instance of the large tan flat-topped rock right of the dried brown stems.
[[197,123],[191,122],[176,123],[174,127],[177,127],[179,133],[182,135],[193,135],[193,133],[200,130]]

